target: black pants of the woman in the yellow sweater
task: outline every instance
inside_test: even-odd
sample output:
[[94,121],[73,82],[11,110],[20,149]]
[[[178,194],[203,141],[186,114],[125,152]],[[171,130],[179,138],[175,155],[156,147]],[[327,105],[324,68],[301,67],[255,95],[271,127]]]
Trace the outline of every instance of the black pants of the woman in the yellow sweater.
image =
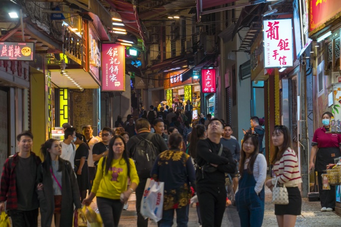
[[118,227],[123,210],[121,201],[97,197],[97,206],[104,227]]

